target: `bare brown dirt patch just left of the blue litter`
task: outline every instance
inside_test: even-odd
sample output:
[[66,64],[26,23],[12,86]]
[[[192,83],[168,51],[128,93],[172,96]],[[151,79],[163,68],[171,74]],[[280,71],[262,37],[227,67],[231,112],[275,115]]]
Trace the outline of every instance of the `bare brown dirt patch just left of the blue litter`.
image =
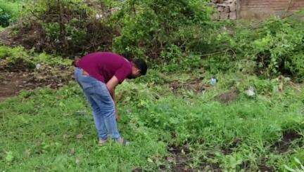
[[179,94],[183,90],[194,91],[195,93],[202,93],[210,87],[209,84],[203,84],[202,79],[195,79],[187,82],[173,81],[170,88],[173,93]]

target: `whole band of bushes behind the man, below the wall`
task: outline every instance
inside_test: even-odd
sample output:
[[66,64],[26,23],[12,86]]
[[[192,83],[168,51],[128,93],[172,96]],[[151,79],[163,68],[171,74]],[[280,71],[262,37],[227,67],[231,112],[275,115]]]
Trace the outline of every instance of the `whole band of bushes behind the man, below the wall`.
[[303,12],[248,23],[212,20],[204,0],[58,2],[25,6],[23,25],[15,27],[21,44],[71,58],[115,51],[165,72],[241,70],[303,81]]

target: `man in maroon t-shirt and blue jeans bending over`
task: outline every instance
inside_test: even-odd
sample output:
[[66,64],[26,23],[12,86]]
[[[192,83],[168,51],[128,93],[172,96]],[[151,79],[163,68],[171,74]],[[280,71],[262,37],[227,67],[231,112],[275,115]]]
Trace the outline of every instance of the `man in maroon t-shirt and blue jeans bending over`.
[[122,145],[126,145],[118,132],[115,108],[115,87],[126,78],[135,79],[145,75],[147,65],[144,60],[127,60],[110,52],[85,55],[75,62],[75,79],[91,104],[99,145],[104,145],[108,135]]

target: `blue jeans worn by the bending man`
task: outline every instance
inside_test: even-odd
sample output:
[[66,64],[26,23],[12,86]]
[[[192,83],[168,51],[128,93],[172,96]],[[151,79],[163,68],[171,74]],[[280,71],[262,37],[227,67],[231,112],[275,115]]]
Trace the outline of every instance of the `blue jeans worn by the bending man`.
[[75,79],[91,104],[99,139],[106,140],[110,135],[118,140],[120,133],[116,124],[115,103],[106,84],[94,77],[83,75],[80,67],[75,68]]

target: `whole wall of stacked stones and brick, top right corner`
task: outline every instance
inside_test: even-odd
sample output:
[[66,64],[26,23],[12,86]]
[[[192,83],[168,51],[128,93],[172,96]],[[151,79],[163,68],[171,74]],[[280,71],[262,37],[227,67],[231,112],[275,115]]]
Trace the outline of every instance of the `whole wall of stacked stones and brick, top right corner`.
[[212,0],[216,19],[266,18],[289,15],[304,9],[304,0]]

